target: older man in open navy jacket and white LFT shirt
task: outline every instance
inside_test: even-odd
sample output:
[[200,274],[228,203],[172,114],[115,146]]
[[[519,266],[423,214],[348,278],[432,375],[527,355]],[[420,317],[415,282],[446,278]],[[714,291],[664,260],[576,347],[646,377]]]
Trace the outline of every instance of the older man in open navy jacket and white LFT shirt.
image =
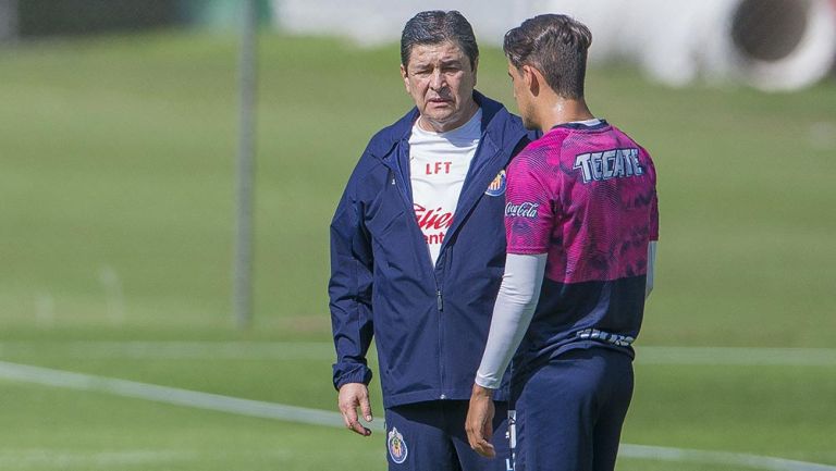
[[[409,20],[401,60],[415,108],[372,137],[331,223],[340,410],[370,435],[357,408],[371,420],[373,336],[390,469],[505,471],[470,449],[464,420],[505,260],[504,169],[528,134],[475,91],[479,49],[458,12]],[[506,409],[504,392],[493,399]]]

